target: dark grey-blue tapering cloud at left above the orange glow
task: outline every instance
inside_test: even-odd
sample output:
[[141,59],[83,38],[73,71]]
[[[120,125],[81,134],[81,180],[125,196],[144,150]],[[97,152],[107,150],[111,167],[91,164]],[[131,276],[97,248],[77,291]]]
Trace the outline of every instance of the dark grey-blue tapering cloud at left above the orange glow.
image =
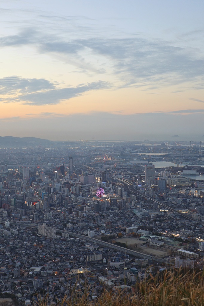
[[80,84],[77,87],[57,88],[45,79],[24,79],[11,76],[0,79],[0,94],[6,95],[0,100],[5,103],[19,102],[28,105],[58,104],[62,100],[69,100],[87,91],[108,87],[108,82],[97,81]]

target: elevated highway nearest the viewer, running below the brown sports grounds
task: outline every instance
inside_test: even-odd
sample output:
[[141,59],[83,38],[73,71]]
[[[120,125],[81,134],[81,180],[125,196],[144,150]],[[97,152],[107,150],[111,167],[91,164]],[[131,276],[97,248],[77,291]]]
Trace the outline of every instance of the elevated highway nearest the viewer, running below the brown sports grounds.
[[[0,223],[5,224],[5,222],[3,222],[3,221],[0,221]],[[38,226],[32,226],[32,225],[29,225],[29,224],[10,222],[10,225],[24,226],[24,227],[29,227],[29,228],[38,230]],[[91,242],[91,243],[96,243],[96,244],[102,245],[102,246],[107,247],[107,248],[112,248],[112,249],[115,249],[115,250],[120,251],[122,253],[135,256],[137,258],[150,259],[150,260],[154,260],[154,261],[157,261],[157,262],[160,262],[160,263],[169,263],[169,259],[157,258],[155,256],[151,256],[151,255],[143,254],[143,253],[140,253],[140,252],[137,252],[137,251],[129,250],[127,248],[123,248],[123,247],[118,246],[116,244],[112,244],[112,243],[109,243],[109,242],[98,240],[98,239],[93,238],[93,237],[87,237],[87,236],[84,236],[84,235],[81,235],[81,234],[72,233],[72,232],[68,232],[68,231],[64,231],[64,230],[57,230],[57,229],[56,229],[56,232],[68,233],[72,237],[80,238],[80,239],[86,240],[86,241]]]

